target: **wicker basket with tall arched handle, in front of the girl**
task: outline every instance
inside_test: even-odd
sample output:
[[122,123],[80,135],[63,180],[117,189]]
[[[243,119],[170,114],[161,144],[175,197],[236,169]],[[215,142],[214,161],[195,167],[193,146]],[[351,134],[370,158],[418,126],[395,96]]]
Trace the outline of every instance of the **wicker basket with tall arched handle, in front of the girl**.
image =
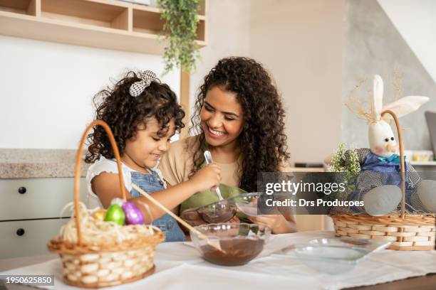
[[[98,125],[102,126],[109,136],[117,160],[120,190],[123,199],[126,200],[120,154],[115,138],[108,124],[102,120],[95,120],[85,129],[76,155],[74,217],[62,228],[61,235],[50,240],[47,245],[51,252],[61,256],[66,284],[83,288],[114,286],[149,276],[155,272],[155,246],[165,240],[165,235],[157,227],[120,226],[112,222],[95,220],[88,214],[85,205],[80,203],[82,146],[88,131]],[[65,227],[68,228],[68,235]],[[115,236],[118,239],[114,239]]]

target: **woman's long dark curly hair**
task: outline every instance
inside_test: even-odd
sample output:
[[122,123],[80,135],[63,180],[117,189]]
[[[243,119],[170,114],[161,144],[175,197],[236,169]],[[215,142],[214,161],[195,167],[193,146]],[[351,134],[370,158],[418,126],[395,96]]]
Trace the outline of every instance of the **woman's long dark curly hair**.
[[207,92],[213,87],[236,93],[242,106],[244,128],[238,137],[242,152],[242,159],[239,159],[239,188],[256,191],[257,173],[279,171],[289,159],[284,134],[285,112],[279,92],[269,73],[255,60],[240,57],[219,60],[204,77],[194,104],[190,130],[199,135],[195,146],[191,146],[194,166],[190,176],[204,162],[203,152],[207,144],[200,124],[200,111]]

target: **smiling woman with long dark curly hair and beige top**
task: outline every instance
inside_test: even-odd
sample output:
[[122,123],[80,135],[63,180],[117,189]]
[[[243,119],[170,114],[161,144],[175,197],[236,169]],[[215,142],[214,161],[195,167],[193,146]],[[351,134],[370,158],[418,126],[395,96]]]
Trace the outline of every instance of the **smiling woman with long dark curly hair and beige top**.
[[[289,171],[284,134],[284,109],[269,73],[251,58],[224,58],[204,77],[195,102],[192,125],[196,136],[174,142],[160,163],[168,183],[187,181],[204,168],[209,149],[222,168],[224,198],[257,190],[257,174]],[[181,217],[201,223],[192,208],[217,201],[203,190],[180,206]],[[274,233],[294,232],[292,215],[250,217]]]

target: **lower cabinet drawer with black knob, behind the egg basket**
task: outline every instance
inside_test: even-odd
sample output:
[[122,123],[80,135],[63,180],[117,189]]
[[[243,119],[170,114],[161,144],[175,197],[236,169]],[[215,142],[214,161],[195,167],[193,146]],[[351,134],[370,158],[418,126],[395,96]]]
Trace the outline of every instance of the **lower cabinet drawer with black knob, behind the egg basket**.
[[47,243],[69,218],[0,222],[0,259],[48,254]]

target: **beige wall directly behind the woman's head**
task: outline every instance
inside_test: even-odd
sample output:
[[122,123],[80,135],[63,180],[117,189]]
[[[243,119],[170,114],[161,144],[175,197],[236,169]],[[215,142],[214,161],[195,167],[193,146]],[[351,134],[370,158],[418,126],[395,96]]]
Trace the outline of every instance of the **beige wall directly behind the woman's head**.
[[220,58],[265,65],[284,96],[292,161],[319,162],[341,141],[343,0],[209,1],[208,45],[194,95]]

